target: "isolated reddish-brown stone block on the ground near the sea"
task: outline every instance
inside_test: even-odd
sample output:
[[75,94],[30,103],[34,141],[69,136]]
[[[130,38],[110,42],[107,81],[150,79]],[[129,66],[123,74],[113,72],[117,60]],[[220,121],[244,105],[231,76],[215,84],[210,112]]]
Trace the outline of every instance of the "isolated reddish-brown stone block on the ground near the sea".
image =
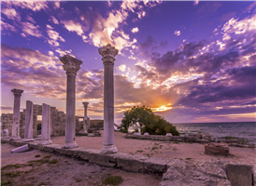
[[227,143],[210,142],[205,145],[205,153],[208,155],[229,155]]

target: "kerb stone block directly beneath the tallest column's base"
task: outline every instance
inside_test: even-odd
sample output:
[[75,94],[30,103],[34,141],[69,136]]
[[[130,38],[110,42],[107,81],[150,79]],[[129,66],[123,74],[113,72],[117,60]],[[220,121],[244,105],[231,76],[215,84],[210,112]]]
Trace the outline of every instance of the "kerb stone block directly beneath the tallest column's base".
[[89,162],[101,166],[114,167],[117,166],[117,153],[102,154],[101,150],[92,150],[89,153]]

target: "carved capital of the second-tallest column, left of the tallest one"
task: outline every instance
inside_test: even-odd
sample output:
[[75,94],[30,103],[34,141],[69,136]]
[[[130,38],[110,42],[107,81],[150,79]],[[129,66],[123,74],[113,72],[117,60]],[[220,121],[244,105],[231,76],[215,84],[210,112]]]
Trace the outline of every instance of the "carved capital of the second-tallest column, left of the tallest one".
[[60,60],[64,63],[63,67],[67,75],[77,75],[77,72],[80,70],[79,65],[82,63],[81,60],[77,60],[69,55],[64,55]]

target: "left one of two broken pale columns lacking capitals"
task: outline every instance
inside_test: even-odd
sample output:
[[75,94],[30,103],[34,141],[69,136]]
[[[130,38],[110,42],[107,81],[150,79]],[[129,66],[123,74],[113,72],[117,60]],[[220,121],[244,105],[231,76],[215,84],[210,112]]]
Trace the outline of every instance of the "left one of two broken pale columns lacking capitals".
[[26,101],[25,134],[24,141],[33,140],[33,102]]

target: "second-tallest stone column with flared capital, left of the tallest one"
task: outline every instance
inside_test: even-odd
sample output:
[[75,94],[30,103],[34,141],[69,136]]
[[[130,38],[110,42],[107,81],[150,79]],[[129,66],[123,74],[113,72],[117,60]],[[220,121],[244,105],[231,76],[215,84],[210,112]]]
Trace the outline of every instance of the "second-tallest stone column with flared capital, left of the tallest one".
[[64,148],[78,147],[76,137],[76,75],[80,69],[81,60],[69,55],[60,59],[64,63],[66,71],[66,113],[65,113],[65,143]]

